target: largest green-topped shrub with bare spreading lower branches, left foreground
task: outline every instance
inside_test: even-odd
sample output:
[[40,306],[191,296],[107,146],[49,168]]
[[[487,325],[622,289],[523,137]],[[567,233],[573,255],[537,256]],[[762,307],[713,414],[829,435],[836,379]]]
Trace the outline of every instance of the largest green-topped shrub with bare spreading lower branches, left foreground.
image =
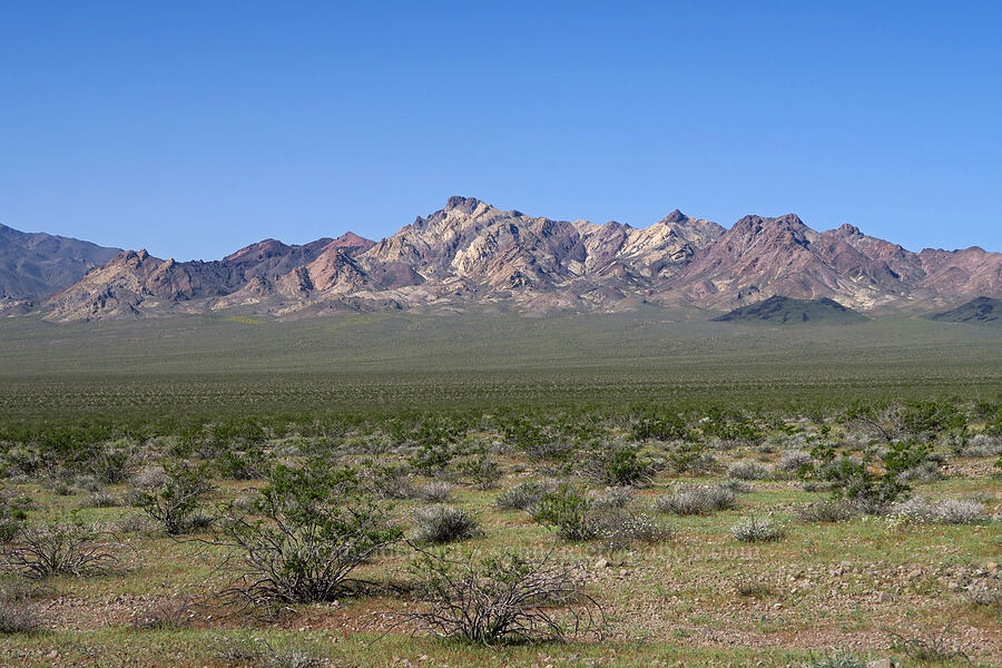
[[324,462],[275,466],[252,512],[230,509],[214,542],[234,551],[225,566],[238,572],[224,597],[268,611],[334,600],[357,581],[355,569],[400,538],[356,471]]

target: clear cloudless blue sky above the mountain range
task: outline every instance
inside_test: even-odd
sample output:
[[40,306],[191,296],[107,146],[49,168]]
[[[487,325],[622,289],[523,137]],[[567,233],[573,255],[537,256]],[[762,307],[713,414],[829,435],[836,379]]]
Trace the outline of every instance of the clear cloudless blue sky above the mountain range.
[[216,258],[466,195],[1002,250],[1000,36],[973,0],[6,2],[0,223]]

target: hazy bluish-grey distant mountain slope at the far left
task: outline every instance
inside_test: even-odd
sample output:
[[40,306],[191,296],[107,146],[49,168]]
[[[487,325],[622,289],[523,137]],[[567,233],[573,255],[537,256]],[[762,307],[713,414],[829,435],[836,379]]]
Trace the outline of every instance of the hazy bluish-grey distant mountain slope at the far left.
[[76,283],[118,253],[90,242],[0,225],[0,303],[39,299]]

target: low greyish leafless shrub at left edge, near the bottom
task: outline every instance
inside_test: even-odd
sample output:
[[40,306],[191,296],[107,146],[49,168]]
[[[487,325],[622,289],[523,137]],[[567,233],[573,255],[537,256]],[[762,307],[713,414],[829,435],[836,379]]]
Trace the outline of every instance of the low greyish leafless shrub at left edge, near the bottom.
[[27,578],[96,576],[119,564],[120,543],[96,524],[52,520],[28,524],[3,550],[6,569]]

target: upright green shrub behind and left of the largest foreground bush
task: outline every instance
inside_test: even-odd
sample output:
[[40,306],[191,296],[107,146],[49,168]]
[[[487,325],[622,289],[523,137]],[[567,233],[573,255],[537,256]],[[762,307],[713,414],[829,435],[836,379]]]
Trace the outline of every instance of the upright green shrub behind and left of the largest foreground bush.
[[204,529],[212,521],[198,512],[200,499],[212,489],[204,466],[180,463],[166,470],[158,488],[143,492],[137,505],[156,520],[169,536]]

